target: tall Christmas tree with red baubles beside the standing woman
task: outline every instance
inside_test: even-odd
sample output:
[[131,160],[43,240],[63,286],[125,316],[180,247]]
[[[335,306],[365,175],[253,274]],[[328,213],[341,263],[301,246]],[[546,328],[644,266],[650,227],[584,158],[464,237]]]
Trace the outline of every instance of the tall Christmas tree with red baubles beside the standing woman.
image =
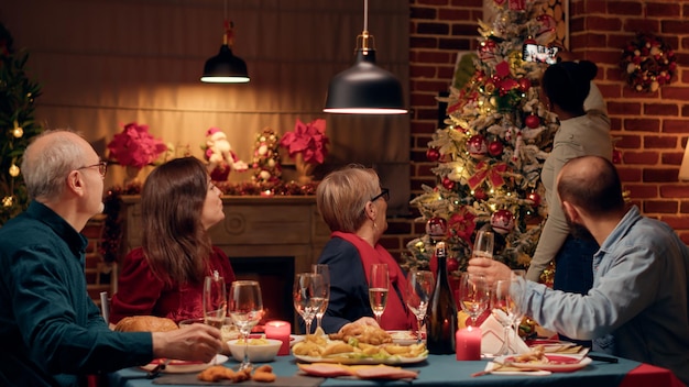
[[[538,1],[496,0],[493,7],[493,21],[479,22],[472,74],[442,99],[447,126],[434,133],[426,153],[438,163],[431,169],[438,184],[424,186],[411,202],[427,231],[407,244],[407,268],[429,267],[434,228],[445,231],[448,270],[466,269],[480,229],[495,231],[494,258],[513,268],[528,266],[540,235],[546,214],[540,170],[558,122],[538,98],[547,67],[538,60],[554,52],[555,23]],[[525,44],[544,55],[525,60]]]

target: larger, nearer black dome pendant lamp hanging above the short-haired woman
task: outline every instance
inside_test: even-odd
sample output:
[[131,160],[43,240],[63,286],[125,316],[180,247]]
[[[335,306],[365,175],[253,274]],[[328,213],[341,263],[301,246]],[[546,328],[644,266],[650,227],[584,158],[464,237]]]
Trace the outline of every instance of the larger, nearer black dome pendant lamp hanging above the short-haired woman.
[[369,1],[363,2],[363,32],[357,36],[357,63],[336,75],[328,87],[326,113],[404,114],[402,86],[375,65],[373,35],[369,34]]

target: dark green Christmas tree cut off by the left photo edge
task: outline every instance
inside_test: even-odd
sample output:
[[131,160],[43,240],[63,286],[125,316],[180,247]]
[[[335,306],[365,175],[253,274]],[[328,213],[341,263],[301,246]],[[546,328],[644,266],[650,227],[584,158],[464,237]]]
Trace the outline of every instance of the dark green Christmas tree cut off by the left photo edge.
[[41,88],[26,77],[28,59],[25,52],[14,52],[12,36],[0,23],[0,225],[29,206],[19,166],[31,139],[43,131],[33,120]]

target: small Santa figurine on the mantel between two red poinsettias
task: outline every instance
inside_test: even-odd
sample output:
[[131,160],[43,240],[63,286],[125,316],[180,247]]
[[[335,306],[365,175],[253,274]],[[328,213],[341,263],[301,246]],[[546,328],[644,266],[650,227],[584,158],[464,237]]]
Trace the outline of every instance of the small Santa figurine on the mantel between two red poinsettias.
[[237,172],[249,169],[247,163],[239,159],[232,152],[227,135],[218,128],[210,128],[206,132],[205,156],[208,161],[210,179],[214,181],[226,181],[232,169]]

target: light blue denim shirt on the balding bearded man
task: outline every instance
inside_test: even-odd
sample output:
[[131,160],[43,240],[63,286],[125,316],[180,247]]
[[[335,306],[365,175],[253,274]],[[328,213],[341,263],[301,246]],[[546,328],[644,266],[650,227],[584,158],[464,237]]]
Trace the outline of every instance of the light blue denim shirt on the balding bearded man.
[[671,369],[689,384],[689,248],[631,208],[593,256],[588,295],[521,280],[523,309],[593,350]]

